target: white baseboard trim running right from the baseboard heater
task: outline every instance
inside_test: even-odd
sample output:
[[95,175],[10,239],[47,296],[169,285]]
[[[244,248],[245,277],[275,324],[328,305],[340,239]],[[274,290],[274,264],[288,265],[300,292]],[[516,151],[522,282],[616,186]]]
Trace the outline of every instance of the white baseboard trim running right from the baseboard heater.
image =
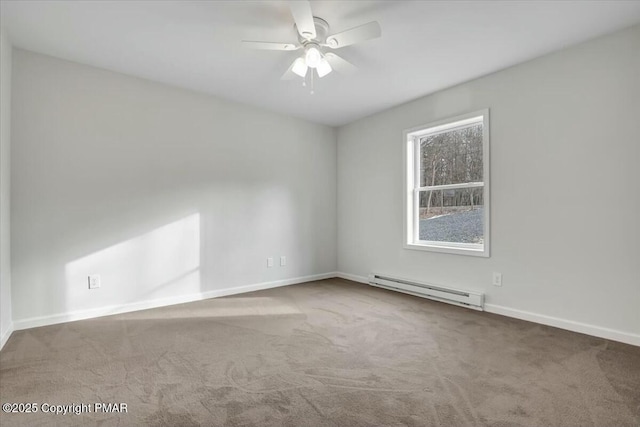
[[640,335],[629,332],[622,332],[615,329],[603,328],[601,326],[589,325],[587,323],[574,322],[573,320],[561,319],[559,317],[546,316],[544,314],[532,313],[530,311],[516,310],[514,308],[503,307],[495,304],[485,304],[484,310],[489,313],[500,314],[516,319],[527,320],[529,322],[540,323],[542,325],[553,326],[568,331],[579,332],[598,338],[605,338],[612,341],[619,341],[625,344],[640,346]]

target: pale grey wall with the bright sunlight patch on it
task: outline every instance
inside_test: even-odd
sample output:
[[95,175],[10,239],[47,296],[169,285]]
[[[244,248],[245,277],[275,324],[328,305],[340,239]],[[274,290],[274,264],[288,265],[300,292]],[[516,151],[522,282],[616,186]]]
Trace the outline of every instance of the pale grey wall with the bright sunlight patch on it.
[[16,49],[12,142],[16,327],[335,271],[330,127]]

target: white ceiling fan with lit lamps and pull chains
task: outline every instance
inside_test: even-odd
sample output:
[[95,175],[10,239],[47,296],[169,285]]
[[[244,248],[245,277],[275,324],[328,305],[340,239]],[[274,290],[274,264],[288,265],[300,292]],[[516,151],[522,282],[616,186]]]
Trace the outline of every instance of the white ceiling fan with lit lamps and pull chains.
[[298,33],[297,43],[243,40],[242,44],[251,49],[262,50],[293,51],[302,49],[304,53],[293,61],[281,79],[291,80],[300,76],[304,79],[304,86],[308,77],[311,82],[312,94],[315,73],[322,78],[332,70],[345,74],[353,73],[356,70],[353,64],[327,50],[340,49],[382,35],[380,24],[376,21],[329,35],[329,24],[324,19],[313,16],[309,1],[296,0],[288,3],[295,22],[294,28]]

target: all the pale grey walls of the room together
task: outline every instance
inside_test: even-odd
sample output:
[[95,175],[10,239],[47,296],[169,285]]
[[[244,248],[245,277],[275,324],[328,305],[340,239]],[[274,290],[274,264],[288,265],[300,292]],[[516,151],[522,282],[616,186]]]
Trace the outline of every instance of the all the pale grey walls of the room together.
[[[362,119],[336,136],[15,50],[14,321],[233,291],[337,266],[480,289],[494,311],[637,339],[638,51],[636,26]],[[11,310],[7,52],[3,39],[3,330]],[[403,249],[402,130],[486,107],[491,258]],[[286,267],[277,266],[280,255]],[[266,268],[267,256],[275,267]],[[504,274],[503,287],[491,286],[493,271]],[[102,288],[89,291],[93,273]]]

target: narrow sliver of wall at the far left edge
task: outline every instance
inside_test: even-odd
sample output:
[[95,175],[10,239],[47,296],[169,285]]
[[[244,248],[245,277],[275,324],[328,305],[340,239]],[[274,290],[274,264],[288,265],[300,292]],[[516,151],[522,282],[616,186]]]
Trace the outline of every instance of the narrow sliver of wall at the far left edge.
[[11,43],[0,32],[0,348],[9,338],[11,323],[10,145]]

